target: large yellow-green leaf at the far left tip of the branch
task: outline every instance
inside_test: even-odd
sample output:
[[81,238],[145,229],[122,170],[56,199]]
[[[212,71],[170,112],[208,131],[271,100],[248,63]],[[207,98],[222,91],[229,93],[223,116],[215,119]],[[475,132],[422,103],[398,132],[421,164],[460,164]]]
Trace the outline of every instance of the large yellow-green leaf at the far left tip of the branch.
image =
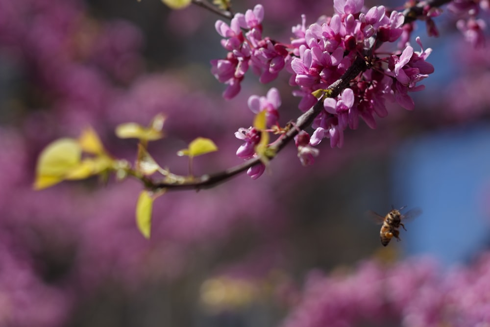
[[80,163],[81,155],[75,139],[62,138],[49,144],[39,155],[34,188],[40,190],[61,182]]

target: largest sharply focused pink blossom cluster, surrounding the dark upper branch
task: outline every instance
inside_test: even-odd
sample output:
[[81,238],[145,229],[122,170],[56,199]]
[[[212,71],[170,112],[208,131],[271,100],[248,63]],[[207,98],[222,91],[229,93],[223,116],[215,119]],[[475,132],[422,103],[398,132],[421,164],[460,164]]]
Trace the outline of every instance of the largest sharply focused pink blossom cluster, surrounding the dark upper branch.
[[388,115],[386,99],[394,98],[412,110],[414,102],[407,93],[421,90],[417,82],[434,71],[425,61],[430,49],[418,53],[406,46],[401,54],[378,58],[378,44],[394,42],[402,35],[404,17],[396,11],[388,16],[383,6],[360,12],[363,2],[334,1],[337,14],[304,28],[299,57],[291,63],[290,83],[300,87],[296,93],[303,97],[299,107],[307,110],[317,101],[312,93],[328,88],[357,56],[370,61],[371,69],[352,80],[340,96],[324,100],[325,110],[315,120],[317,133],[330,138],[332,147],[342,147],[343,130],[357,128],[359,117],[375,128],[374,114]]

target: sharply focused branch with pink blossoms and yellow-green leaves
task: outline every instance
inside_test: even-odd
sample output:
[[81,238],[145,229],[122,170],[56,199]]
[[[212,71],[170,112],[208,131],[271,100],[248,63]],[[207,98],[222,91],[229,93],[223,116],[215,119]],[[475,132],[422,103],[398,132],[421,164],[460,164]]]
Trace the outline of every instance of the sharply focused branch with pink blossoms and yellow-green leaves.
[[[179,3],[177,1],[178,6],[188,4]],[[294,94],[301,97],[299,109],[305,112],[295,122],[280,126],[278,108],[281,101],[277,89],[270,89],[267,97],[250,97],[248,106],[256,113],[254,124],[248,129],[240,128],[236,133],[237,138],[245,141],[237,151],[239,157],[248,160],[245,164],[214,175],[194,176],[192,158],[217,150],[211,140],[201,138],[196,139],[189,149],[179,152],[190,158],[189,176],[177,176],[162,169],[147,153],[147,142],[162,137],[164,117],[158,116],[147,128],[135,124],[118,127],[119,137],[134,137],[141,141],[135,168],[126,161],[111,159],[97,135],[87,131],[78,141],[60,140],[43,152],[36,187],[40,189],[63,179],[115,171],[121,178],[132,175],[141,179],[149,190],[156,191],[152,192],[154,197],[171,189],[214,186],[246,169],[247,174],[256,179],[292,139],[295,139],[301,162],[308,165],[318,155],[315,146],[323,138],[330,139],[331,147],[342,147],[343,131],[347,127],[358,128],[360,117],[375,128],[374,114],[379,117],[388,115],[387,99],[394,99],[404,108],[413,110],[415,104],[408,93],[422,90],[423,85],[417,83],[433,73],[434,68],[426,61],[431,50],[424,50],[419,38],[419,52],[409,45],[413,29],[410,22],[418,16],[427,18],[431,33],[436,33],[431,17],[438,15],[440,4],[428,4],[423,8],[414,4],[405,13],[388,12],[384,6],[372,7],[363,13],[363,5],[363,1],[336,1],[335,15],[322,17],[308,28],[303,16],[302,24],[293,28],[294,38],[290,44],[262,35],[262,5],[256,5],[245,14],[234,15],[226,1],[221,3],[221,10],[212,9],[224,17],[233,17],[229,25],[219,20],[215,26],[225,38],[221,41],[222,46],[229,51],[225,59],[211,61],[215,77],[228,85],[223,97],[232,99],[240,92],[249,67],[260,75],[262,83],[274,80],[281,70],[286,69],[291,74],[290,84],[297,87]],[[404,26],[409,27],[404,29]],[[383,44],[395,41],[399,42],[401,52],[393,49],[387,56],[384,50],[379,50]],[[312,124],[316,129],[310,135],[304,129]],[[272,143],[269,142],[270,132],[279,135]],[[82,160],[83,151],[95,157]],[[70,158],[66,153],[71,153]],[[163,179],[148,177],[156,172],[163,175]],[[137,221],[147,236],[153,197],[143,192],[137,209]]]

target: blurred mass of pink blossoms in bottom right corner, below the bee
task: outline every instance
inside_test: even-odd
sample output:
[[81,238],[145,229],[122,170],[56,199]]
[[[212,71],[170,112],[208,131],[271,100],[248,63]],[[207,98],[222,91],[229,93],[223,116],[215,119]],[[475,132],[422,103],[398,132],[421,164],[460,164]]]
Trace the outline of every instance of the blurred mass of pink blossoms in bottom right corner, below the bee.
[[347,276],[312,273],[283,327],[488,326],[489,280],[488,253],[446,272],[419,258],[389,267],[368,261]]

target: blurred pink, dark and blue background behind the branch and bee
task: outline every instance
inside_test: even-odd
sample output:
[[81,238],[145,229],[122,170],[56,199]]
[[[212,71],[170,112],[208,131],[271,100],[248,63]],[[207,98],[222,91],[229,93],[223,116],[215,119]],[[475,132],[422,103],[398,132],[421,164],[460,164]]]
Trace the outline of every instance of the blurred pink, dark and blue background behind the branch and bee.
[[[313,23],[333,12],[328,1],[262,4],[264,32],[282,40],[301,13]],[[0,0],[0,326],[429,326],[451,296],[490,289],[490,56],[464,43],[449,14],[436,20],[440,38],[423,38],[436,72],[414,112],[393,106],[377,129],[346,132],[343,149],[323,142],[307,168],[291,145],[258,180],[166,194],[149,241],[134,222],[136,180],[32,190],[40,151],[87,125],[132,161],[136,141],[115,126],[164,113],[167,138],[150,153],[185,174],[176,151],[209,137],[220,151],[197,158],[204,174],[241,163],[233,133],[251,125],[250,95],[277,87],[281,123],[296,118],[286,74],[270,85],[247,75],[237,98],[221,99],[209,64],[225,55],[216,19],[155,0]],[[365,213],[392,205],[424,214],[385,249]],[[397,293],[373,303],[382,291],[366,285],[383,278]],[[418,307],[427,294],[431,305]],[[489,303],[475,294],[473,309]]]

